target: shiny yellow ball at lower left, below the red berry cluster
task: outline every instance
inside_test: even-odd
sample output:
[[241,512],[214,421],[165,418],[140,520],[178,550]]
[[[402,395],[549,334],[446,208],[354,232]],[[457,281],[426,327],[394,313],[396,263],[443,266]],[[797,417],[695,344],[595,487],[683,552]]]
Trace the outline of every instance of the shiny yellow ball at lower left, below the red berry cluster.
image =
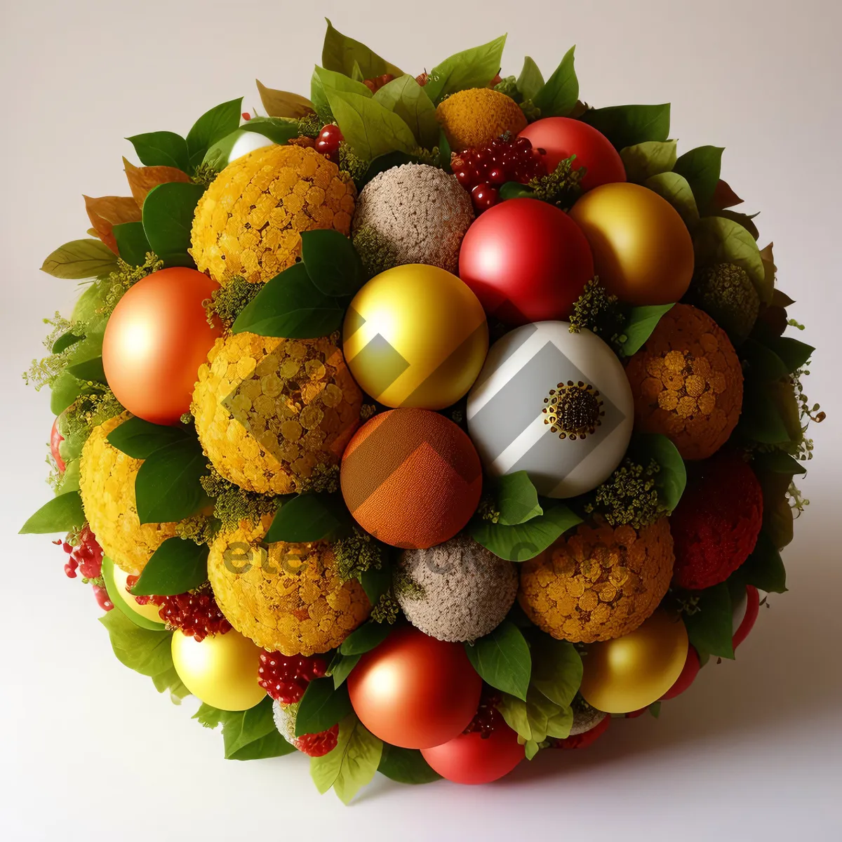
[[201,642],[173,632],[173,666],[187,689],[221,711],[248,711],[264,700],[258,685],[260,650],[233,629]]

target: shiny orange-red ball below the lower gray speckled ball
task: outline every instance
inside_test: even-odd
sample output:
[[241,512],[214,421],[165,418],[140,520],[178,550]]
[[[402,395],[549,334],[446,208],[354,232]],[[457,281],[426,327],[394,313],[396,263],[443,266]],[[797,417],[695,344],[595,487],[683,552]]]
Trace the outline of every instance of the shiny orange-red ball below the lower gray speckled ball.
[[412,626],[397,628],[348,676],[360,722],[403,749],[429,749],[461,734],[481,692],[482,679],[461,643],[427,637]]

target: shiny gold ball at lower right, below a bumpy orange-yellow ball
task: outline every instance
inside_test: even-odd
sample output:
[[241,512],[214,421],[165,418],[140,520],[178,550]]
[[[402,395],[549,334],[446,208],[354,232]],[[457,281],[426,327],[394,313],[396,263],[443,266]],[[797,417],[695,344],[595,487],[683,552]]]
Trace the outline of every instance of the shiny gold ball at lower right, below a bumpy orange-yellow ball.
[[658,609],[634,632],[588,647],[579,692],[598,711],[639,711],[675,684],[688,646],[685,624]]

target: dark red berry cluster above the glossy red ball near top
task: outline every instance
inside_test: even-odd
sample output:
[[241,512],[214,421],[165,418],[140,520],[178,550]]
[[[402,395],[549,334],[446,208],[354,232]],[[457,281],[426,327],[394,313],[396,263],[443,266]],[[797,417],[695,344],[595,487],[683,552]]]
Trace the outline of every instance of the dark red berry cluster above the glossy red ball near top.
[[453,159],[453,172],[459,184],[471,191],[474,209],[482,213],[498,203],[501,184],[526,184],[546,175],[545,155],[526,137],[502,135],[488,147],[460,152]]

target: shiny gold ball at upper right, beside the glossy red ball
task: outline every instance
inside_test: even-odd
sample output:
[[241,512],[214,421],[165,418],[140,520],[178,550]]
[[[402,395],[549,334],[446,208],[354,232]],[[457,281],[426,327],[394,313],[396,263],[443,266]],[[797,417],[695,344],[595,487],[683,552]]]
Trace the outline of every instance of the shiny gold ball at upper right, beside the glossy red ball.
[[693,277],[693,241],[672,205],[640,184],[602,184],[570,216],[588,237],[594,270],[627,304],[672,304]]

